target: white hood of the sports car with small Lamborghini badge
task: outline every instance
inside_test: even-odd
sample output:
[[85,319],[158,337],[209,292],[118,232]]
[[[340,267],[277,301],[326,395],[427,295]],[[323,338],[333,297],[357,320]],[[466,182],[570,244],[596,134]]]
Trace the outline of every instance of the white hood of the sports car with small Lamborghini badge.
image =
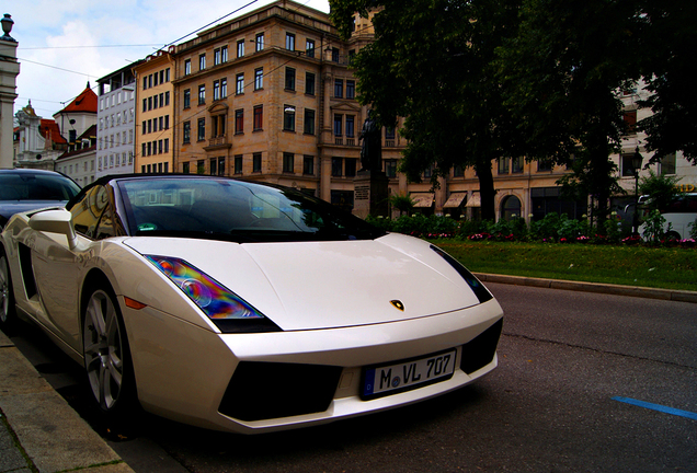
[[427,242],[399,234],[346,242],[239,244],[144,236],[124,243],[144,255],[185,259],[283,330],[396,322],[479,303]]

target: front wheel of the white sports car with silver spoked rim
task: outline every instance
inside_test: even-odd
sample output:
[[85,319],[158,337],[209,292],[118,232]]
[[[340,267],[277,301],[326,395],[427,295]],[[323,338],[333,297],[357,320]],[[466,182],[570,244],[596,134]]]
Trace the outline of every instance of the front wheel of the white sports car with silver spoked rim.
[[107,419],[125,420],[137,408],[136,379],[116,296],[92,289],[83,308],[82,351],[92,400]]

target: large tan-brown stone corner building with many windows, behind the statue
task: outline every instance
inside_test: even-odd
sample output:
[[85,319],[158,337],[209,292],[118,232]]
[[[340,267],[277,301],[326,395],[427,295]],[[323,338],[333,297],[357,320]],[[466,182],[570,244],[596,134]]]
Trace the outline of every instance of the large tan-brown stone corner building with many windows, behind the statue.
[[[351,209],[367,108],[348,61],[370,37],[342,42],[328,14],[278,1],[178,45],[175,170],[274,182]],[[396,166],[400,140],[386,134]]]

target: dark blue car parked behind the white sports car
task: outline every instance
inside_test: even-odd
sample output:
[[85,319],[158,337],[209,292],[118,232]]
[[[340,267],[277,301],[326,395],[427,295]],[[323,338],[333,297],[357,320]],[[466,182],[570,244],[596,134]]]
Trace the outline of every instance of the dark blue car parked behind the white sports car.
[[14,214],[65,206],[80,192],[70,177],[43,170],[0,170],[0,229]]

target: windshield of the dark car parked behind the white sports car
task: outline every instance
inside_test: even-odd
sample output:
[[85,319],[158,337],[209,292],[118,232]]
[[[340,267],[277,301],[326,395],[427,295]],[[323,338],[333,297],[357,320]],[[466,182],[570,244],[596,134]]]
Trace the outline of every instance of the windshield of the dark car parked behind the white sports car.
[[60,174],[0,174],[0,200],[70,200],[79,192],[76,183]]

